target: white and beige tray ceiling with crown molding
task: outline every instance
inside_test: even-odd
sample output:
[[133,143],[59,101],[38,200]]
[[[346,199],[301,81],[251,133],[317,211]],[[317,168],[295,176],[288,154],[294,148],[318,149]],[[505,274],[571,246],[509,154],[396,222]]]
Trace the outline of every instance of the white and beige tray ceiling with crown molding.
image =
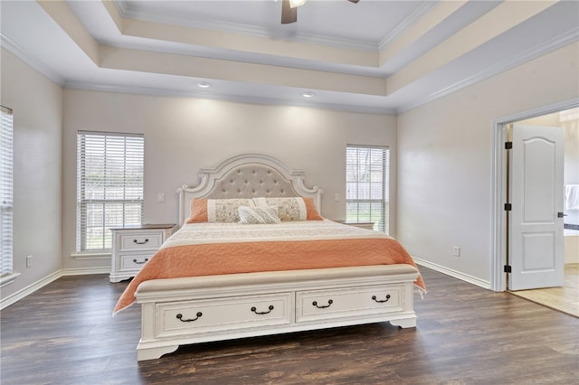
[[1,7],[3,47],[64,87],[379,113],[579,39],[576,1],[309,0],[284,25],[281,0]]

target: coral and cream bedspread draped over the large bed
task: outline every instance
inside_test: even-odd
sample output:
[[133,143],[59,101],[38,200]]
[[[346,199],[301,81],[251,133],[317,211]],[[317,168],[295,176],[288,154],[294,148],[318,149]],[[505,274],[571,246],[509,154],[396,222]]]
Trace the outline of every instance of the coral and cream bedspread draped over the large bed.
[[[391,264],[416,267],[397,240],[334,221],[185,224],[133,278],[114,313],[150,279]],[[414,283],[425,290],[421,276]]]

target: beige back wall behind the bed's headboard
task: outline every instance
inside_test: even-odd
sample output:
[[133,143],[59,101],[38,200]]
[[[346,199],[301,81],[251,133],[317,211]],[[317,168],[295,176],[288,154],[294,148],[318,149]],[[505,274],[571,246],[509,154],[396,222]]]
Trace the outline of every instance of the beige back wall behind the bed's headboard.
[[[183,183],[195,184],[199,168],[247,152],[279,157],[306,171],[306,184],[324,190],[322,215],[345,217],[346,145],[392,149],[395,186],[395,117],[317,108],[262,106],[206,99],[167,98],[78,89],[64,90],[64,268],[103,266],[74,254],[76,134],[78,130],[145,135],[145,221],[175,222]],[[157,202],[157,193],[166,202]],[[395,190],[394,190],[395,192]],[[334,194],[340,201],[334,202]],[[395,195],[393,195],[395,202]],[[395,211],[391,213],[392,220]],[[395,229],[395,221],[393,223]]]

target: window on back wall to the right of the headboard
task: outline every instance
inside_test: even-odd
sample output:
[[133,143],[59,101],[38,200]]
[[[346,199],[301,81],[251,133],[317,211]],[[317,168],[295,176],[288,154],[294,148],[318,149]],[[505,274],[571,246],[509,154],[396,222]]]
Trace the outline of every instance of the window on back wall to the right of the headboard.
[[372,221],[389,232],[390,150],[379,146],[346,146],[346,221]]

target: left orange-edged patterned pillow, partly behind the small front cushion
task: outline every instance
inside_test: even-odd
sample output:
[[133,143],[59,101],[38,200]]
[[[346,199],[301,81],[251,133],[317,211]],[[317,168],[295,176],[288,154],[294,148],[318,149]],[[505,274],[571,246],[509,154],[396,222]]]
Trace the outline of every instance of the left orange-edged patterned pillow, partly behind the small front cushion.
[[255,206],[251,199],[192,199],[191,216],[187,223],[237,222],[240,206]]

